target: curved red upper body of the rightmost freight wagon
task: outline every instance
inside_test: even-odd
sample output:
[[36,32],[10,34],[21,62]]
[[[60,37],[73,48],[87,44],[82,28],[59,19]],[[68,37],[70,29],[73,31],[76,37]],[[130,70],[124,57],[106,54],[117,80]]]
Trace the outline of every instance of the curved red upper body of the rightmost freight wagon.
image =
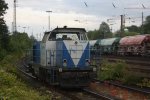
[[120,45],[140,45],[144,41],[150,42],[150,35],[135,35],[135,36],[126,36],[120,40]]

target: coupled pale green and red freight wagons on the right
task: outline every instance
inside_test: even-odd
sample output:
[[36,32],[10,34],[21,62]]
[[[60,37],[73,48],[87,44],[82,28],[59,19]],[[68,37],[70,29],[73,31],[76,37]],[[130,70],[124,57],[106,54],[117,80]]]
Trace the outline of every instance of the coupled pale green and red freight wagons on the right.
[[150,56],[150,35],[126,36],[123,38],[98,39],[97,45],[103,55]]

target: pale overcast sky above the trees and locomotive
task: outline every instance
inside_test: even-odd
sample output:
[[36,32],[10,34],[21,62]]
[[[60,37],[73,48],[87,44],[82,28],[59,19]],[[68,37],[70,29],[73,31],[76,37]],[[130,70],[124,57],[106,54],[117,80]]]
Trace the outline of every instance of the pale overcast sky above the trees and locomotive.
[[[12,30],[13,22],[13,1],[5,0],[9,9],[5,15],[9,30]],[[85,4],[86,3],[86,4]],[[114,6],[113,6],[113,4]],[[124,9],[124,8],[142,8],[142,4],[149,9]],[[150,15],[149,0],[17,0],[17,30],[26,31],[29,35],[32,33],[42,34],[48,30],[48,13],[50,13],[51,29],[63,27],[83,27],[86,30],[98,29],[101,22],[107,22],[107,19],[113,18],[109,22],[113,24],[113,31],[120,28],[120,15],[125,14],[126,26],[140,25],[141,12],[144,16]],[[78,21],[75,21],[78,20]],[[135,21],[135,22],[134,22]],[[134,23],[133,23],[134,22]],[[23,28],[26,27],[26,28]]]

